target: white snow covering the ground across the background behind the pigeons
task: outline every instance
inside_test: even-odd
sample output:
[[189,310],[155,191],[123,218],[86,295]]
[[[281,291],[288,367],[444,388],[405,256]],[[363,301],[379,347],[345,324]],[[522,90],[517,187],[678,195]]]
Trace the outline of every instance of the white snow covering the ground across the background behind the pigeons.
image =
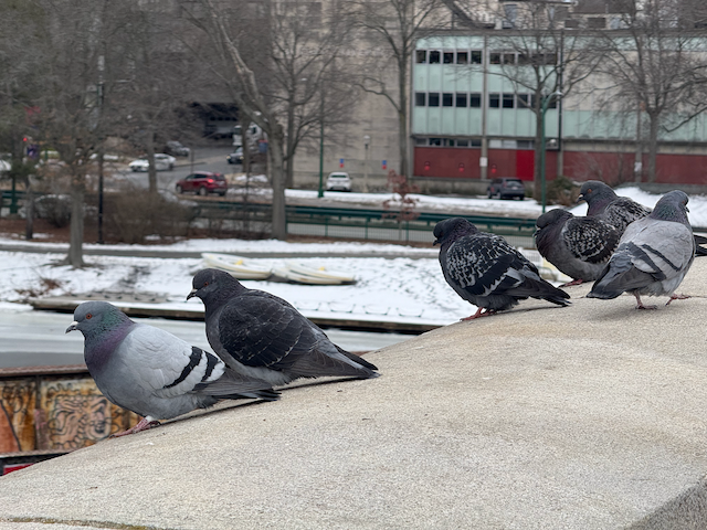
[[[288,193],[291,193],[288,191]],[[294,193],[294,192],[292,192]],[[316,197],[316,192],[296,191],[297,194]],[[654,206],[661,195],[648,194],[637,188],[622,188],[619,193],[647,205]],[[369,200],[371,205],[380,205],[390,194],[337,193],[337,199],[360,203]],[[540,213],[535,201],[490,201],[486,199],[424,198],[425,208],[445,209],[485,209],[507,215],[515,215],[519,209],[524,212]],[[481,206],[479,206],[481,204]],[[688,204],[690,222],[695,226],[707,226],[707,198],[694,195]],[[576,215],[585,213],[587,206],[579,205],[572,211]],[[0,242],[17,242],[1,239]],[[199,258],[143,258],[86,256],[91,265],[82,271],[55,265],[64,257],[61,245],[34,243],[52,250],[46,254],[23,252],[0,252],[0,310],[8,307],[25,308],[19,303],[29,296],[81,294],[96,290],[136,290],[166,294],[165,307],[201,307],[199,300],[183,301],[191,288],[191,277],[203,266]],[[86,245],[95,247],[97,245]],[[251,288],[273,293],[293,303],[307,316],[326,318],[390,320],[420,324],[446,325],[457,321],[474,311],[473,306],[462,300],[444,282],[436,259],[435,248],[421,250],[402,245],[376,243],[286,243],[275,240],[191,240],[171,245],[106,245],[112,248],[175,250],[194,252],[278,252],[297,255],[302,253],[345,252],[350,257],[296,257],[309,266],[325,266],[329,269],[354,273],[355,285],[305,286],[278,282],[244,282]],[[376,252],[381,257],[356,257],[360,252]],[[387,258],[391,253],[421,252],[429,257]],[[283,259],[251,259],[255,265],[275,267]],[[14,303],[14,304],[7,304]]]

